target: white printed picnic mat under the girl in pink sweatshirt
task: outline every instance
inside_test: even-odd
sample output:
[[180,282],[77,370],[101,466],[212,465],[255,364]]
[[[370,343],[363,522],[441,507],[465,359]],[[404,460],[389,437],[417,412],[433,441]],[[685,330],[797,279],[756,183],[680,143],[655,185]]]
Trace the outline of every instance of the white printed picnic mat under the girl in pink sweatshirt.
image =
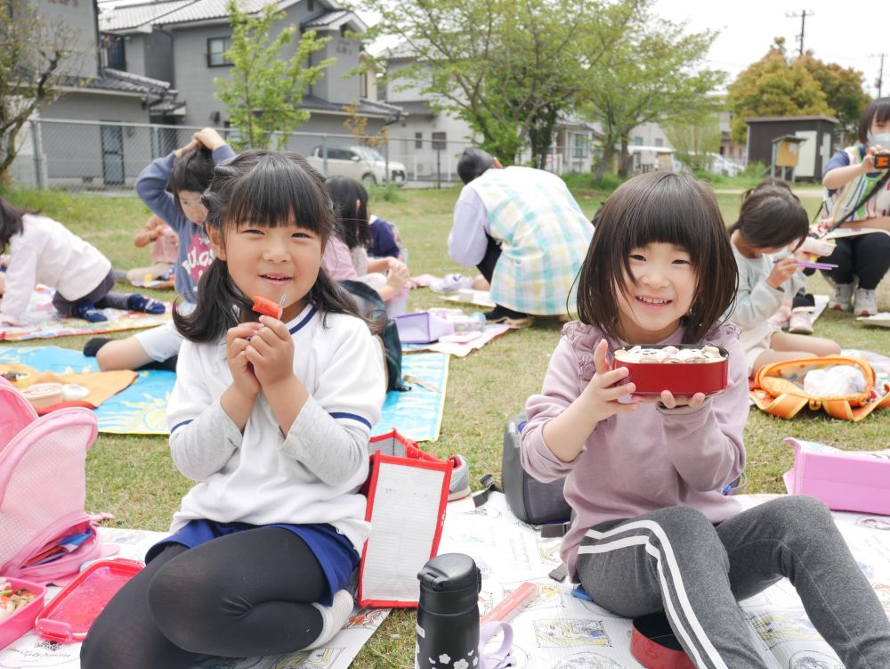
[[[746,506],[774,495],[740,495]],[[890,614],[890,518],[835,513],[835,521],[865,575]],[[484,614],[525,581],[538,595],[514,626],[518,668],[640,669],[630,655],[630,620],[572,596],[568,583],[547,576],[557,567],[561,539],[541,539],[517,520],[502,494],[490,494],[479,509],[469,499],[451,502],[439,552],[463,552],[481,569],[480,610]],[[752,636],[772,669],[844,669],[834,651],[813,629],[787,579],[742,609]]]

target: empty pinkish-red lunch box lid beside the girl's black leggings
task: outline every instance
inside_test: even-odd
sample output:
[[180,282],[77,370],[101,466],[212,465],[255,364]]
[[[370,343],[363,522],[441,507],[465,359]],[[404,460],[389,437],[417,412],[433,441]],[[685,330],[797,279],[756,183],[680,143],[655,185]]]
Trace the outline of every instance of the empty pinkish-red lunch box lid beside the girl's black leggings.
[[84,640],[102,609],[141,570],[142,563],[132,559],[93,562],[37,616],[37,633],[61,643]]

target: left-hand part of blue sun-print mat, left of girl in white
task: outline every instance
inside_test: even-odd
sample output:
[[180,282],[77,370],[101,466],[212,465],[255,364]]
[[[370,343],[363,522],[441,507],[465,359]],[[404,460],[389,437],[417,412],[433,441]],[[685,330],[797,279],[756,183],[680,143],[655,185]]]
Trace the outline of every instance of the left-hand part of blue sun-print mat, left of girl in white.
[[[2,347],[0,362],[27,364],[39,371],[69,374],[100,371],[95,358],[60,347]],[[176,375],[140,371],[133,385],[109,397],[96,409],[99,431],[118,435],[166,435],[166,405]]]

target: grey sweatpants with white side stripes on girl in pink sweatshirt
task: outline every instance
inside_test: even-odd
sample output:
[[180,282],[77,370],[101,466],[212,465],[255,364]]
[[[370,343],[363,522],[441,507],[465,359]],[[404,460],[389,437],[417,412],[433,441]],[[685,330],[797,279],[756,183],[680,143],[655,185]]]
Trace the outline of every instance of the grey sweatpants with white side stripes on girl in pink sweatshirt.
[[578,578],[600,606],[635,617],[664,610],[696,667],[765,667],[737,600],[787,576],[810,621],[847,669],[890,667],[890,622],[829,510],[781,497],[713,525],[670,507],[595,526]]

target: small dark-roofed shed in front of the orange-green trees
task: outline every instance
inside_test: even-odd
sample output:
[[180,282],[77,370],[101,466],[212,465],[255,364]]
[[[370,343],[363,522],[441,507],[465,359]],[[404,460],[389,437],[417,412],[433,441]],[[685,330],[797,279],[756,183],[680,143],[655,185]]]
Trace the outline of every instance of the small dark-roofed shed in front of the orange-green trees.
[[773,162],[773,140],[782,135],[795,135],[805,140],[800,144],[795,177],[802,181],[821,181],[822,168],[834,151],[834,130],[837,118],[831,116],[763,116],[745,118],[748,124],[748,165]]

